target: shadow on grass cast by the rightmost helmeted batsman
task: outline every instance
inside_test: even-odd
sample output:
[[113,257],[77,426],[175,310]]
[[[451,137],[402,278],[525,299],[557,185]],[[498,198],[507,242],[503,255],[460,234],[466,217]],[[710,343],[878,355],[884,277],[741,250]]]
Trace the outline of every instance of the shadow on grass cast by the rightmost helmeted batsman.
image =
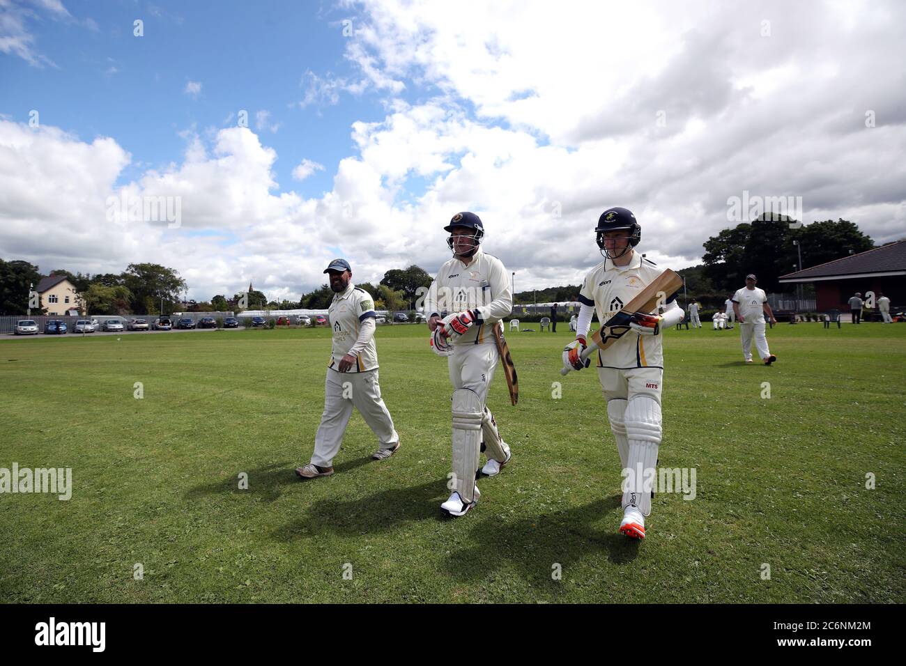
[[554,564],[568,572],[569,565],[602,552],[615,564],[631,563],[639,542],[617,532],[620,505],[621,496],[602,497],[553,514],[501,520],[479,513],[479,502],[467,533],[472,545],[448,555],[447,571],[477,581],[506,565],[522,569],[526,578],[552,582]]

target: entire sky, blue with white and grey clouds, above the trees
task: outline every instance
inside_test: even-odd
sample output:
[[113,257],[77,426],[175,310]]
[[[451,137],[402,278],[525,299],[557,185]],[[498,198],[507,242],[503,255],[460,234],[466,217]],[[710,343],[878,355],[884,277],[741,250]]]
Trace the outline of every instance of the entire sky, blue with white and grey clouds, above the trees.
[[901,2],[0,0],[0,257],[298,298],[433,273],[468,209],[521,291],[612,206],[694,265],[744,192],[895,240],[904,44]]

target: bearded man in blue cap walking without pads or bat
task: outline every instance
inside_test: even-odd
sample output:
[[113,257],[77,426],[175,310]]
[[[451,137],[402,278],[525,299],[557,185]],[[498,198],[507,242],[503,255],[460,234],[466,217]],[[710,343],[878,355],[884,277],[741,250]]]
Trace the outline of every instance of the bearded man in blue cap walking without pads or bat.
[[393,429],[378,383],[371,294],[352,284],[352,268],[345,259],[334,259],[324,273],[330,274],[335,294],[327,311],[333,327],[333,349],[324,381],[324,411],[314,436],[312,461],[295,470],[299,478],[333,474],[333,458],[340,451],[353,407],[378,437],[379,448],[371,458],[390,458],[400,449],[400,437]]

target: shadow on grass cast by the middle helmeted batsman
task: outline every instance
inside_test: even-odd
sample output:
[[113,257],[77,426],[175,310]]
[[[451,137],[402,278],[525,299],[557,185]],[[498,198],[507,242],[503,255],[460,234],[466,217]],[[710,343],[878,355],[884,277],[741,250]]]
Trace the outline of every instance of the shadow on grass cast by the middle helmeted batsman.
[[448,495],[446,484],[446,479],[437,479],[420,486],[391,487],[369,497],[322,499],[304,516],[277,528],[273,536],[278,541],[328,532],[359,536],[390,532],[404,523],[435,520],[442,517],[439,506]]

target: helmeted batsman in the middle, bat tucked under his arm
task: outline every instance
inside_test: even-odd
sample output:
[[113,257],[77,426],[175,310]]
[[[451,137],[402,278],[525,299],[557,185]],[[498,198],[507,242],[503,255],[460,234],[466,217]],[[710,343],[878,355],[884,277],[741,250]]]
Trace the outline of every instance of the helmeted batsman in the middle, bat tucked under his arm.
[[431,347],[448,357],[454,389],[453,492],[440,509],[463,516],[480,497],[476,477],[481,452],[487,455],[481,471],[489,477],[512,458],[485,399],[499,357],[492,326],[510,314],[513,295],[503,262],[481,250],[485,227],[477,215],[457,213],[444,229],[453,258],[440,266],[431,283],[425,312],[430,313]]

